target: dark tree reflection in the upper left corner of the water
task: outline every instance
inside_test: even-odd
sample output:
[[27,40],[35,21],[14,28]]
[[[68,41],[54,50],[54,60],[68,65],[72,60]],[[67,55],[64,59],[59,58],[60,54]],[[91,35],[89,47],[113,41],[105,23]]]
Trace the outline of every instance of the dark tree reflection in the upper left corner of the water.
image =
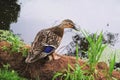
[[17,22],[20,5],[18,0],[1,0],[0,1],[0,29],[9,30],[12,22]]

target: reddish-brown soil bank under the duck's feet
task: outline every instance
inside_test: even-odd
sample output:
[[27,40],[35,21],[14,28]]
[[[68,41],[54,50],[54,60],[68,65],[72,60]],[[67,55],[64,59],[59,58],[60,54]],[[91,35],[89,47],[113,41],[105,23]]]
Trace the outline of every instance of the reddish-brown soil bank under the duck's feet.
[[[4,42],[4,45],[10,46]],[[62,72],[68,68],[68,64],[74,67],[76,58],[71,56],[60,56],[58,60],[47,61],[47,59],[41,59],[35,63],[25,63],[25,57],[22,53],[10,54],[9,51],[3,51],[1,49],[3,42],[0,42],[0,68],[3,64],[10,64],[10,69],[14,69],[20,76],[27,78],[28,80],[52,80],[53,75],[56,72]],[[84,65],[85,62],[79,59],[79,64]],[[84,66],[83,70],[89,70],[89,66]],[[107,80],[108,66],[105,62],[99,62],[96,66],[97,74],[94,74],[96,80]],[[112,76],[120,80],[120,72],[113,71]],[[112,79],[111,79],[112,80]]]

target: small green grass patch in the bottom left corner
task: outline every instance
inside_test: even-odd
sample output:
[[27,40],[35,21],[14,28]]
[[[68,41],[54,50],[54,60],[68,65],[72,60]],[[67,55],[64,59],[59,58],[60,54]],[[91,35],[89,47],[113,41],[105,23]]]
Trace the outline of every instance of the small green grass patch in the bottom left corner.
[[4,65],[3,69],[0,69],[0,80],[26,80],[18,76],[18,73],[14,70],[8,70],[10,65]]

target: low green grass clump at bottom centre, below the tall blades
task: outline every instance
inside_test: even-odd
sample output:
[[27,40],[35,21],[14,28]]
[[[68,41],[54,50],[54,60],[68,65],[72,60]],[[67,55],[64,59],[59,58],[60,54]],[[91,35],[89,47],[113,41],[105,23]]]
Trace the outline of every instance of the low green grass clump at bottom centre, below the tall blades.
[[68,64],[68,69],[64,73],[57,72],[52,80],[56,80],[57,78],[60,78],[60,80],[94,80],[92,75],[84,75],[85,71],[81,68],[79,64],[76,64],[75,68]]

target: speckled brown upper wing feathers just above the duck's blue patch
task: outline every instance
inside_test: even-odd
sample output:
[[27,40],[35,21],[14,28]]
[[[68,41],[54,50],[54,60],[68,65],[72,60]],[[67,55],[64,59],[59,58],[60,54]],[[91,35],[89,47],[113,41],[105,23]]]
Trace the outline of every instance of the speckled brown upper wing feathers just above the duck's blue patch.
[[45,46],[54,46],[54,48],[57,48],[60,40],[61,38],[51,30],[41,30],[32,43],[32,49],[43,51]]

